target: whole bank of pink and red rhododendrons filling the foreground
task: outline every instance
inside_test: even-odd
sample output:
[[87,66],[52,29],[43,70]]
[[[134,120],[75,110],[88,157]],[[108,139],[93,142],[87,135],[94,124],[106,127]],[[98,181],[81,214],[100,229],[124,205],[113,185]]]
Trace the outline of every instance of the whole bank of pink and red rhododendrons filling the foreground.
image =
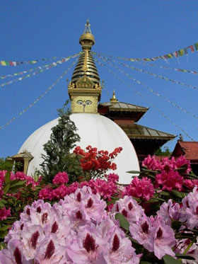
[[121,186],[115,173],[96,177],[100,155],[87,150],[76,152],[91,180],[69,185],[59,172],[44,185],[0,172],[0,263],[198,263],[198,177],[190,163],[148,156]]

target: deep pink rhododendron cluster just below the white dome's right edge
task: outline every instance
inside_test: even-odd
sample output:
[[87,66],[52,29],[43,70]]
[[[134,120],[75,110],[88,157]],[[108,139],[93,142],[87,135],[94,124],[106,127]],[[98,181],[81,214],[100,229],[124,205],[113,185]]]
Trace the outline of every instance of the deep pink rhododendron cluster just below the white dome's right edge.
[[148,201],[153,197],[153,194],[154,187],[153,183],[151,183],[151,179],[148,179],[147,177],[141,179],[134,177],[132,182],[124,188],[122,196],[129,195]]

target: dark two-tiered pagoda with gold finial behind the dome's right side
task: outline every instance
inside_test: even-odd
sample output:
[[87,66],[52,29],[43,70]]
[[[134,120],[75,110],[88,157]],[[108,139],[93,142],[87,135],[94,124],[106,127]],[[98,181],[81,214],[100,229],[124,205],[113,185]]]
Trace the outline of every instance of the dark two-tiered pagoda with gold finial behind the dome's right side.
[[98,105],[98,113],[116,122],[127,134],[140,163],[148,154],[153,155],[163,144],[175,138],[173,134],[138,125],[137,122],[147,110],[143,106],[119,102],[115,91],[110,102]]

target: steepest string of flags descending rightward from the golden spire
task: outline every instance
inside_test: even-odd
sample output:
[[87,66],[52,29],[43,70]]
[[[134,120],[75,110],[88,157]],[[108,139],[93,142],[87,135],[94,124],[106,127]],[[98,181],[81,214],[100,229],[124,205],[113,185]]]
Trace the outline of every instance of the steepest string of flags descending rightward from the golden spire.
[[[100,64],[100,66],[106,66],[105,64],[101,63],[98,59],[95,58],[95,61],[98,62],[98,64]],[[104,61],[104,60],[103,60]],[[107,61],[106,61],[107,62]],[[107,64],[110,64],[110,62],[107,62]],[[132,88],[132,90],[138,95],[141,96],[141,98],[148,104],[150,105],[152,108],[156,108],[156,110],[158,111],[158,113],[160,113],[165,119],[167,119],[172,125],[174,125],[175,127],[177,127],[178,130],[180,130],[183,134],[185,134],[189,139],[191,139],[192,141],[194,141],[194,139],[192,139],[192,137],[190,137],[189,134],[187,134],[187,132],[185,132],[185,130],[182,129],[182,127],[180,127],[179,125],[175,124],[175,122],[173,122],[173,120],[170,119],[170,117],[168,117],[168,115],[165,115],[165,113],[163,113],[163,111],[159,108],[156,107],[156,105],[153,105],[153,103],[150,103],[149,101],[147,101],[144,96],[142,96],[141,93],[139,93],[138,91],[136,91],[132,85],[127,84],[126,81],[124,81],[123,79],[121,79],[119,76],[117,76],[117,74],[115,74],[114,71],[112,71],[111,69],[107,69],[113,76],[115,76],[119,81],[122,81],[122,83],[124,83],[126,86],[128,86],[129,88]],[[137,81],[137,80],[136,80]],[[138,84],[141,84],[140,81],[137,81]]]

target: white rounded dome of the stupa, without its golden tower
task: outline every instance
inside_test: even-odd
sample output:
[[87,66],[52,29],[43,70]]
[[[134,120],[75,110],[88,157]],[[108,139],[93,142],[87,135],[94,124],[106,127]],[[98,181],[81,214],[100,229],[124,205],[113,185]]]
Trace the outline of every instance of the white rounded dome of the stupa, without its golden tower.
[[[86,149],[88,145],[96,147],[98,150],[107,150],[112,152],[117,147],[122,147],[122,151],[115,158],[117,170],[114,172],[120,176],[119,183],[129,184],[132,180],[132,174],[126,171],[139,171],[139,161],[136,151],[124,131],[112,120],[98,114],[74,113],[70,115],[77,127],[77,133],[81,137],[77,146]],[[26,139],[18,153],[27,150],[34,158],[28,166],[28,175],[33,175],[35,168],[40,168],[42,163],[41,154],[45,154],[43,144],[50,139],[52,127],[57,125],[58,118],[37,129]],[[112,172],[112,171],[109,171]]]

